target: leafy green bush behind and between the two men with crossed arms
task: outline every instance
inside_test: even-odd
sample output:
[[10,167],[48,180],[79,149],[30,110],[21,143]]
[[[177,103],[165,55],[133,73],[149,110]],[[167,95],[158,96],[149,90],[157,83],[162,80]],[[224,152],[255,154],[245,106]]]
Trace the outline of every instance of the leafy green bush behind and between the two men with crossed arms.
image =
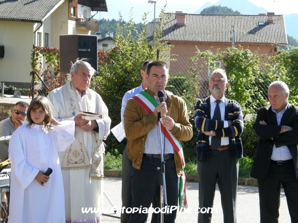
[[[192,57],[192,61],[201,58],[205,59],[206,66],[215,64],[215,61],[222,61],[226,71],[229,87],[225,93],[227,98],[236,100],[243,110],[244,115],[254,113],[254,111],[267,104],[267,92],[264,91],[268,86],[267,82],[274,80],[275,75],[270,70],[270,59],[264,56],[254,54],[248,49],[244,50],[241,46],[238,48],[226,48],[225,51],[219,50],[214,54],[210,50],[205,52],[197,51]],[[260,60],[261,59],[261,60]],[[265,60],[267,63],[263,63]],[[268,66],[269,71],[261,69]]]

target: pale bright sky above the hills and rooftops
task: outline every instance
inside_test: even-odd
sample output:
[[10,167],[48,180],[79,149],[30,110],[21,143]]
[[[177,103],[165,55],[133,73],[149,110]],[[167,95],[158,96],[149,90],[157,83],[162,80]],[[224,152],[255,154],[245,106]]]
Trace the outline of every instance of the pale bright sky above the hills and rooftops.
[[[194,13],[206,2],[216,3],[218,0],[167,0],[166,12],[183,11],[186,13]],[[298,13],[298,0],[250,0],[259,7],[263,7],[268,11],[276,14],[291,14]],[[154,4],[148,3],[148,0],[106,0],[108,12],[98,12],[94,16],[95,19],[119,19],[118,12],[121,11],[123,20],[128,21],[130,18],[130,10],[134,7],[133,18],[134,22],[142,22],[144,12],[149,12],[148,21],[153,19]],[[183,2],[183,4],[181,3]],[[156,0],[155,17],[162,6],[165,5],[165,0]],[[92,12],[92,15],[95,12]]]

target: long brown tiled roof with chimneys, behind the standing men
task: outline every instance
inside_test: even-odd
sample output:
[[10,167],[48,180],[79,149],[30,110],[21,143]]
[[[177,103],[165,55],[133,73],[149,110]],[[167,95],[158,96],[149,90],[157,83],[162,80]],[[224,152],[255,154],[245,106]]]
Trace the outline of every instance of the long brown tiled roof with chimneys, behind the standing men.
[[[288,44],[283,15],[274,15],[268,23],[267,15],[186,14],[185,26],[178,26],[175,14],[164,13],[168,22],[161,21],[164,33],[161,41],[231,43],[232,25],[235,43]],[[259,26],[259,22],[265,22]],[[165,24],[165,25],[164,25]],[[155,30],[160,24],[155,24]],[[146,36],[152,40],[153,22],[148,23]]]

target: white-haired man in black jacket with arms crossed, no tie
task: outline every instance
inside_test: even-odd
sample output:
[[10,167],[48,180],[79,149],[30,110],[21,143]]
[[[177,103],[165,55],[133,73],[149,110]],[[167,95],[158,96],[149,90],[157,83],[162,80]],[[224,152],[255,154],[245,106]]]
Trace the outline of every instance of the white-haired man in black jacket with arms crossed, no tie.
[[278,223],[281,185],[292,223],[298,223],[298,107],[288,102],[289,87],[274,81],[269,106],[257,110],[259,136],[250,175],[258,179],[261,223]]

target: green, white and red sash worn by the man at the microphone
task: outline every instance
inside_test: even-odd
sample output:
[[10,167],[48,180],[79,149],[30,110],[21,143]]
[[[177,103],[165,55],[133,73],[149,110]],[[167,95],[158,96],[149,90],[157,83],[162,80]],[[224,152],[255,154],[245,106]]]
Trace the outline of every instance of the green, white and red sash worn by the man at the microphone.
[[[155,108],[158,106],[158,103],[146,91],[141,91],[132,98],[149,114],[153,113]],[[156,122],[156,125],[158,125],[158,122]],[[173,134],[162,125],[162,123],[160,123],[160,126],[161,132],[163,133],[163,135],[165,135],[167,140],[169,140],[169,142],[173,146],[173,149],[179,154],[179,157],[182,162],[182,169],[180,170],[179,179],[179,206],[187,208],[186,177],[184,174],[185,161],[183,156],[182,145],[180,140],[176,139],[176,137],[173,136]],[[165,134],[165,131],[167,131],[168,134]]]

